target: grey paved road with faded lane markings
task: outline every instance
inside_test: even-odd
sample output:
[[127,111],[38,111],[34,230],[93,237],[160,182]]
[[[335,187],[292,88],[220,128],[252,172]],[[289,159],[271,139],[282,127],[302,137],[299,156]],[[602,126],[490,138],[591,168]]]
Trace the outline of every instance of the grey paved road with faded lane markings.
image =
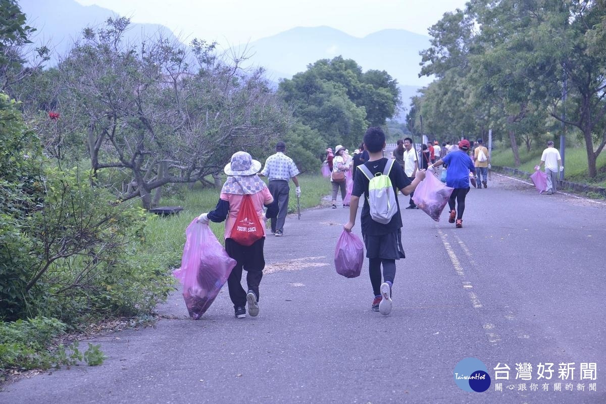
[[[189,320],[175,294],[159,311],[176,318],[96,338],[104,365],[20,380],[0,403],[606,402],[606,204],[497,174],[489,186],[470,191],[462,229],[403,211],[390,316],[370,311],[367,262],[358,278],[335,273],[347,210],[307,210],[266,242],[259,317],[235,319],[224,290]],[[454,383],[465,357],[485,363],[488,391]],[[524,362],[531,380],[516,380]],[[551,380],[539,363],[554,363]],[[559,363],[574,363],[568,380]],[[508,380],[494,380],[499,364]]]

